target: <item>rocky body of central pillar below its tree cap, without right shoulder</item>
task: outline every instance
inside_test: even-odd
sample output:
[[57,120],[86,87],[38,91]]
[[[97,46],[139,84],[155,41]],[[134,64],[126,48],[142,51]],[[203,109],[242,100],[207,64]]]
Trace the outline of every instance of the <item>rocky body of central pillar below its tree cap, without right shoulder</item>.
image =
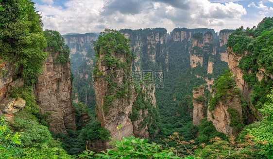
[[[98,73],[94,75],[97,120],[101,122],[103,128],[110,130],[111,136],[114,139],[119,139],[117,127],[120,125],[122,125],[120,128],[120,135],[122,137],[134,135],[129,115],[132,111],[135,97],[133,88],[129,83],[130,81],[127,79],[130,78],[129,72],[132,70],[130,55],[112,52],[107,56],[117,58],[117,63],[123,63],[123,65],[118,66],[118,64],[114,64],[111,66],[107,65],[103,60],[104,56],[108,54],[107,52],[102,51],[98,52],[98,54],[100,58],[98,58],[95,68],[98,70]],[[122,86],[124,85],[126,87],[123,88]],[[116,96],[118,91],[123,91],[125,94]]]

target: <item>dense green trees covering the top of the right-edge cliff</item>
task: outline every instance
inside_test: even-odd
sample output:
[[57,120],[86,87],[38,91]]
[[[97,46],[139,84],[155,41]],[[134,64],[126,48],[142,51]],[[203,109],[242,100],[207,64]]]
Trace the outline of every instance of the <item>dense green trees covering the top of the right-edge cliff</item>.
[[260,69],[266,74],[273,74],[272,46],[273,17],[265,17],[252,29],[247,28],[243,31],[243,27],[240,27],[229,36],[227,43],[227,47],[232,48],[235,54],[242,56],[239,68],[244,71],[243,79],[253,90],[251,103],[257,109],[268,101],[266,95],[273,86],[273,79],[267,75],[260,82],[256,77],[256,74],[261,74]]

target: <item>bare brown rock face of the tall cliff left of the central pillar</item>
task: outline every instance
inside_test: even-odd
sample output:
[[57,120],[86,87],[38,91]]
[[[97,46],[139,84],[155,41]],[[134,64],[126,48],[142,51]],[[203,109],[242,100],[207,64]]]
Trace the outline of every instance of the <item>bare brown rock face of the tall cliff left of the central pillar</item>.
[[[49,50],[49,48],[47,48]],[[58,62],[59,52],[48,51],[49,57],[37,82],[33,85],[34,95],[41,113],[50,112],[50,131],[66,133],[76,129],[74,109],[71,104],[70,62]]]

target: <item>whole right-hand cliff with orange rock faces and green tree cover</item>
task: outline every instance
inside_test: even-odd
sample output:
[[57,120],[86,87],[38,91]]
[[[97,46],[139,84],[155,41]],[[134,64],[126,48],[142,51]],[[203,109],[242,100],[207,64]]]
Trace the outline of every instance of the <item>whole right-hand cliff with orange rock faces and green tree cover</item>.
[[272,26],[272,18],[264,18],[257,27],[241,27],[229,35],[226,53],[230,73],[214,84],[207,114],[217,131],[235,134],[244,125],[263,119],[258,109],[268,102],[266,95],[273,81]]

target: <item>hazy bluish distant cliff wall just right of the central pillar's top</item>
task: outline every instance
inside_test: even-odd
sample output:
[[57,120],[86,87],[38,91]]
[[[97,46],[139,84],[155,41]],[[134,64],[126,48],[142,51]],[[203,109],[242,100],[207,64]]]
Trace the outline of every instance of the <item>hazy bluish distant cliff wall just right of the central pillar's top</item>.
[[[149,70],[149,67],[147,66],[159,64],[162,59],[165,61],[165,64],[168,63],[168,53],[166,51],[166,29],[156,28],[136,31],[125,29],[120,30],[119,32],[121,32],[127,39],[132,40],[130,42],[130,47],[136,56],[136,59],[133,62],[133,70]],[[165,67],[163,68],[164,70],[168,69],[168,67]]]

